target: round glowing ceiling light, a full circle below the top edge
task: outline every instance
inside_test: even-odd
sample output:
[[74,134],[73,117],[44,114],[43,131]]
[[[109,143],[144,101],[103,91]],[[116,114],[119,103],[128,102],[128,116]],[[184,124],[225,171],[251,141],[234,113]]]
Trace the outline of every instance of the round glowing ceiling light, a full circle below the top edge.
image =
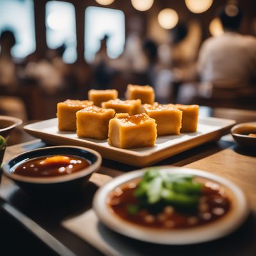
[[161,12],[158,13],[157,18],[160,26],[165,29],[174,28],[179,21],[178,13],[175,12],[175,10],[170,8],[161,10]]

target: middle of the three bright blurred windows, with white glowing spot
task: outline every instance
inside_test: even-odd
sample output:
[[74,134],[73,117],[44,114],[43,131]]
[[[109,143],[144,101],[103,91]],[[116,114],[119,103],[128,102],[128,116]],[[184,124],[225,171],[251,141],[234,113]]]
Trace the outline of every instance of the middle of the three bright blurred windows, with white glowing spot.
[[51,49],[65,44],[63,61],[74,63],[76,51],[76,12],[72,3],[49,1],[45,6],[46,42]]

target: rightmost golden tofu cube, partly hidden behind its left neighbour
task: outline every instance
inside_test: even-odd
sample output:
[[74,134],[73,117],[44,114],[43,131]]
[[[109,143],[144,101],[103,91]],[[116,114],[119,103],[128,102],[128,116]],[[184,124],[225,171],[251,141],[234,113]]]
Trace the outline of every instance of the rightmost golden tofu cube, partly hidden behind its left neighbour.
[[182,111],[182,127],[180,132],[196,132],[198,123],[198,105],[175,104]]

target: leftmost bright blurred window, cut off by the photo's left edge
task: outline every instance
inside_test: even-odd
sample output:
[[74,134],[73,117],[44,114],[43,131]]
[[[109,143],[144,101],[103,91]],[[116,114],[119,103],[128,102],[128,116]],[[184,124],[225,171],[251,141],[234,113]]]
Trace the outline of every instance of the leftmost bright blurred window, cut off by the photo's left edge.
[[36,49],[33,0],[0,1],[0,34],[10,30],[16,44],[12,49],[15,58],[24,58]]

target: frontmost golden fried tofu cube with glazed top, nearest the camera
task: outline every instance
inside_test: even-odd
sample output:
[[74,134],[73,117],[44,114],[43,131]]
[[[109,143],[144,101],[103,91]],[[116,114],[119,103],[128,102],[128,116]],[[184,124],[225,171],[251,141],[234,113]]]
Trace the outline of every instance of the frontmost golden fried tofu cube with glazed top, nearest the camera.
[[118,148],[151,147],[155,145],[156,137],[156,121],[146,113],[116,114],[109,121],[109,145]]

